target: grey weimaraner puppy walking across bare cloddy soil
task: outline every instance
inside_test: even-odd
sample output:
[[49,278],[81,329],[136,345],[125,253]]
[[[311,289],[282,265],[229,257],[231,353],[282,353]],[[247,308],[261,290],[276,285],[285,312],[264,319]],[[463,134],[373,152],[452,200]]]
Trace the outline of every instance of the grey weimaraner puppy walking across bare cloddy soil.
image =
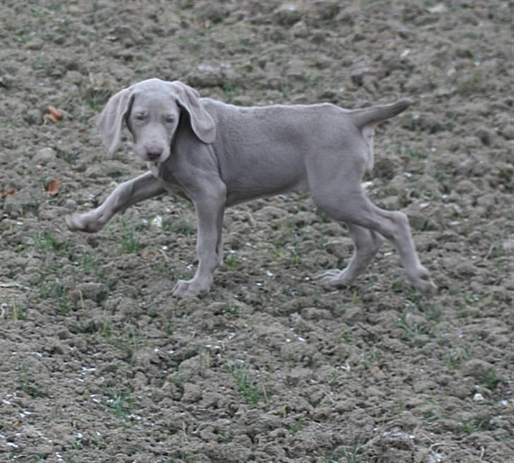
[[407,277],[424,295],[436,286],[419,262],[407,216],[374,206],[361,180],[373,167],[373,129],[405,110],[410,100],[364,110],[317,105],[239,107],[199,98],[179,81],[152,78],[121,90],[98,127],[112,153],[126,124],[134,151],[150,172],[119,184],[88,213],[66,217],[71,230],[96,232],[119,211],[165,192],[191,201],[198,218],[198,268],[173,295],[208,291],[222,262],[225,208],[250,199],[309,191],[314,203],[347,223],[354,241],[348,266],[316,276],[323,288],[352,283],[383,238],[398,250]]

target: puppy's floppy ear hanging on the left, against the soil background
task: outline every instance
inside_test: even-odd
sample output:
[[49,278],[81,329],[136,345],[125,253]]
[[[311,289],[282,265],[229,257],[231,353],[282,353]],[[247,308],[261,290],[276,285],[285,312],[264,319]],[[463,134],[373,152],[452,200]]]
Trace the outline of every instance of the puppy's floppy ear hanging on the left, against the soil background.
[[98,129],[102,135],[102,142],[110,154],[116,151],[121,137],[121,129],[130,111],[133,100],[131,88],[120,90],[112,95],[100,114],[97,122]]

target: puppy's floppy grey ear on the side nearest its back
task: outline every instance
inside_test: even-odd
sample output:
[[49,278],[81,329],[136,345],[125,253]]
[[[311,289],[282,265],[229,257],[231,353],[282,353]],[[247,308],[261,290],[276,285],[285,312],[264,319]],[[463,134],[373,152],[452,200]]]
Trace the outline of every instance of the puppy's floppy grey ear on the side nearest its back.
[[216,125],[213,117],[205,111],[198,92],[180,81],[169,82],[179,106],[189,114],[191,129],[203,143],[213,143],[216,138]]

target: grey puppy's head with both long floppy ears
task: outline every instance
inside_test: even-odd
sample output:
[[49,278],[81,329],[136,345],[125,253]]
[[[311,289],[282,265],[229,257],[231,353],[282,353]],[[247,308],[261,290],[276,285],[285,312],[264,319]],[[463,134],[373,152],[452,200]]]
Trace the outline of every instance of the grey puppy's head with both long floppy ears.
[[203,143],[213,143],[215,122],[196,90],[179,81],[157,78],[136,83],[112,96],[100,114],[98,128],[104,146],[114,153],[125,123],[133,136],[136,154],[145,162],[162,163],[169,157],[184,112],[193,134]]

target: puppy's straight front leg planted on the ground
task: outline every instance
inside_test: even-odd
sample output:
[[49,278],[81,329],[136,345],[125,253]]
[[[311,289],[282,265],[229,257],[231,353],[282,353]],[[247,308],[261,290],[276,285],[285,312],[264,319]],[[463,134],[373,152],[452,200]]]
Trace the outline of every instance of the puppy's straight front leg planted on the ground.
[[179,280],[173,288],[173,295],[179,298],[208,291],[213,283],[214,271],[222,262],[222,222],[225,211],[225,197],[213,195],[195,202],[198,219],[198,268],[193,279]]

